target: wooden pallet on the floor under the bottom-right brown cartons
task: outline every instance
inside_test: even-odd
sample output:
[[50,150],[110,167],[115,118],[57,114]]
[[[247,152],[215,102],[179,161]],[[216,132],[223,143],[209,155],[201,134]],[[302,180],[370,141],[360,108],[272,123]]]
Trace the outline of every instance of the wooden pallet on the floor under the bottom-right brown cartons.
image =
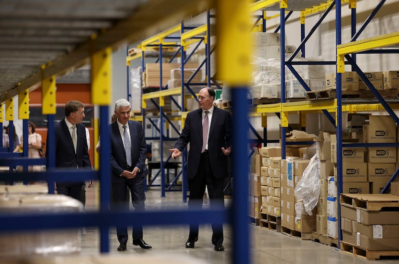
[[390,257],[397,259],[399,251],[370,251],[361,247],[340,241],[341,252],[365,260],[379,260],[381,257]]

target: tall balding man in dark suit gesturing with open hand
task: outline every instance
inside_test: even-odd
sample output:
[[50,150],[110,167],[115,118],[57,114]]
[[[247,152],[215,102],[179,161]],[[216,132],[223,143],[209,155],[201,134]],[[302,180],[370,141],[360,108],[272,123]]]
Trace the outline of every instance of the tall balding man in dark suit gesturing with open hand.
[[[205,186],[210,206],[223,203],[223,182],[228,176],[227,155],[231,152],[231,116],[213,106],[215,91],[202,88],[198,102],[200,109],[191,111],[186,118],[182,134],[176,141],[172,157],[177,158],[190,143],[187,174],[189,179],[189,208],[202,207]],[[198,225],[190,225],[186,248],[194,248],[198,241]],[[223,227],[212,224],[212,244],[215,251],[224,251]]]

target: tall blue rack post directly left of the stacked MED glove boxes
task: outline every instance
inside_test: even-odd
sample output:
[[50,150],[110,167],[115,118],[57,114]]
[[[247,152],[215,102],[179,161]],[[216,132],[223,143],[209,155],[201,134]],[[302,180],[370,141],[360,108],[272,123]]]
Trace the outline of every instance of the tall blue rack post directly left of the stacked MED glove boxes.
[[[341,1],[335,2],[336,44],[341,44]],[[335,56],[337,58],[337,56]],[[338,241],[342,240],[340,196],[342,193],[342,74],[337,72],[337,197],[338,197]],[[340,245],[338,245],[340,248]]]

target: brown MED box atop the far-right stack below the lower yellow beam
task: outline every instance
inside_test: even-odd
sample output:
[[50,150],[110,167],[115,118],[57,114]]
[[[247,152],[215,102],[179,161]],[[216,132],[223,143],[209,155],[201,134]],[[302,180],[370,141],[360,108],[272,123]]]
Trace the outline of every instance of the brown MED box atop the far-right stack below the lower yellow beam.
[[396,125],[390,116],[370,116],[369,125],[363,125],[363,142],[396,142]]

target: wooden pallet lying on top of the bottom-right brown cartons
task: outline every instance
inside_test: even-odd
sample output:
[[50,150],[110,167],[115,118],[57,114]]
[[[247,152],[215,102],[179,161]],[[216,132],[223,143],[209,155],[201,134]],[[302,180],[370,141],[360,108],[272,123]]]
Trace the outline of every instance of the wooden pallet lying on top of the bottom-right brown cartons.
[[393,194],[342,194],[341,205],[363,209],[369,212],[381,211],[383,207],[399,210],[399,196]]

